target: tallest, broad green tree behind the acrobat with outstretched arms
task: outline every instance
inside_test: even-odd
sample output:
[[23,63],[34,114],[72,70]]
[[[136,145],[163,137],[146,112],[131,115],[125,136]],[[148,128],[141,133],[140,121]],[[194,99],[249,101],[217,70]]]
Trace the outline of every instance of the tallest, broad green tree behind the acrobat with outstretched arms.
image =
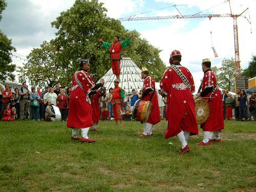
[[103,76],[111,68],[109,50],[103,48],[98,38],[113,42],[114,36],[121,39],[129,37],[134,33],[132,42],[121,51],[121,56],[131,57],[138,67],[148,66],[148,70],[154,71],[155,78],[160,80],[164,70],[164,63],[159,57],[161,50],[148,44],[146,39],[141,39],[136,31],[126,30],[119,20],[106,16],[107,10],[97,0],[76,0],[73,7],[51,23],[52,27],[58,29],[56,38],[52,44],[56,47],[58,60],[62,68],[67,69],[68,81],[71,81],[73,73],[78,68],[79,58],[88,57],[91,63],[90,73]]

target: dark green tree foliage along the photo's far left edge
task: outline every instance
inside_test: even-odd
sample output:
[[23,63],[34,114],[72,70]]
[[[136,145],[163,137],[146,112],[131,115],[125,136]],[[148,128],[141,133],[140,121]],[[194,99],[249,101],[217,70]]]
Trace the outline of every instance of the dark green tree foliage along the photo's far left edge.
[[[5,10],[7,4],[5,1],[0,0],[0,21],[2,19],[2,12]],[[9,39],[1,30],[0,30],[0,80],[5,81],[7,77],[11,80],[14,80],[16,65],[10,64],[12,62],[11,51],[16,51],[16,49],[11,46],[12,40]]]

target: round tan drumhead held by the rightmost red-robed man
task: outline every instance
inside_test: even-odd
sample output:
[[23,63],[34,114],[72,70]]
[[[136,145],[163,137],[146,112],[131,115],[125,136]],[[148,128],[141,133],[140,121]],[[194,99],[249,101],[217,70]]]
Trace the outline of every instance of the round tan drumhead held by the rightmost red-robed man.
[[210,115],[210,105],[204,99],[195,100],[197,124],[203,124]]

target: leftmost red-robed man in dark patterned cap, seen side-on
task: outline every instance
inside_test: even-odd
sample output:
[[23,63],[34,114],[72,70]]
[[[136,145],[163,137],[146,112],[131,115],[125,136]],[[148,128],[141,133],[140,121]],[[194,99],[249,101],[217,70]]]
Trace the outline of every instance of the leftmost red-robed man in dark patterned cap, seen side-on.
[[[72,78],[67,126],[72,128],[72,140],[81,139],[83,142],[95,142],[87,135],[90,126],[93,125],[90,97],[100,92],[97,89],[103,86],[104,81],[94,84],[88,73],[90,69],[89,59],[81,58],[79,65],[80,69],[75,72]],[[82,138],[77,137],[80,128]]]

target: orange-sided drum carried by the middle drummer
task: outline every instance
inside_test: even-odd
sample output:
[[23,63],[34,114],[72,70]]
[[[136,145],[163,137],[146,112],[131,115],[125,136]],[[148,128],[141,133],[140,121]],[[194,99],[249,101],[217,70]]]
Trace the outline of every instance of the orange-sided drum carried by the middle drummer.
[[152,103],[150,101],[137,100],[133,106],[132,116],[135,119],[146,122],[150,117]]

